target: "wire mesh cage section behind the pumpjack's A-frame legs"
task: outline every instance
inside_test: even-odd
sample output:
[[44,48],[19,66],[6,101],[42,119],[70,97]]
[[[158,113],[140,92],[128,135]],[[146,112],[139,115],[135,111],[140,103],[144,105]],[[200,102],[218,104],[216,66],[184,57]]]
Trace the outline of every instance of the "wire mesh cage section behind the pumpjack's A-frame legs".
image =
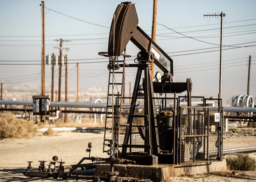
[[[169,111],[173,114],[174,107],[174,98],[163,98],[163,97],[154,97],[152,98],[152,104],[154,105],[151,113],[154,113],[154,125],[155,125],[155,135],[152,135],[152,140],[157,141],[157,150],[160,152],[160,146],[164,145],[164,141],[161,137],[161,131],[166,128],[172,129],[173,127],[173,116],[170,117],[169,122],[162,123],[159,122],[159,116],[161,111]],[[118,101],[117,101],[118,102]],[[177,108],[177,98],[176,98]],[[124,143],[125,131],[127,128],[128,115],[131,108],[131,97],[123,97],[121,102],[121,107],[119,110],[119,121],[116,120],[116,124],[118,125],[118,131],[116,133],[116,139],[118,140],[119,146]],[[137,101],[135,104],[135,110],[133,115],[145,116],[144,109],[144,97],[137,97]],[[153,119],[153,117],[152,117]],[[147,119],[145,117],[133,117],[131,132],[129,136],[128,145],[146,145],[145,143],[145,128],[147,127]],[[160,132],[160,133],[159,133]],[[159,139],[160,137],[160,139]],[[160,142],[159,142],[160,141]],[[170,142],[170,140],[166,140],[166,142]],[[127,149],[127,153],[144,153],[146,150],[144,148],[136,148],[129,147]],[[119,152],[122,152],[122,148],[119,147]]]

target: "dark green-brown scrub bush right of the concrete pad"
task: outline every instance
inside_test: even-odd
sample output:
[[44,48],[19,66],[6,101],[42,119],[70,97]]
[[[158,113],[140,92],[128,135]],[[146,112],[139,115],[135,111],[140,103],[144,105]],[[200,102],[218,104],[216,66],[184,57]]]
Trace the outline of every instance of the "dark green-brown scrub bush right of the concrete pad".
[[227,166],[230,170],[236,171],[255,171],[256,159],[253,159],[248,154],[239,156],[228,156],[226,158]]

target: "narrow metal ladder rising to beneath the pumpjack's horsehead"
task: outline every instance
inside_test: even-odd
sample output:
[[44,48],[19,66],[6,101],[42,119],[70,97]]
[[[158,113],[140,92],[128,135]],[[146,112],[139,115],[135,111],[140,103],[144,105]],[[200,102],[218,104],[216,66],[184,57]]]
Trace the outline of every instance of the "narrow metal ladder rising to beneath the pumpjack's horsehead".
[[[119,67],[119,63],[123,63],[122,67]],[[128,66],[128,64],[125,63],[125,56],[122,61],[119,61],[118,57],[110,57],[110,59],[109,59],[108,94],[107,94],[107,107],[106,107],[106,117],[105,117],[103,152],[106,152],[105,146],[109,145],[108,141],[110,139],[115,139],[118,142],[118,137],[116,137],[118,125],[115,125],[115,123],[119,123],[120,114],[119,114],[119,112],[115,112],[114,110],[115,109],[119,110],[121,108],[121,103],[117,103],[116,105],[114,105],[114,97],[119,97],[118,100],[120,102],[122,102],[123,88],[124,88],[124,75],[125,75],[124,73],[125,73],[126,66]],[[116,70],[119,70],[120,68],[122,69],[121,71],[116,71]],[[115,74],[122,75],[121,82],[116,82]],[[119,77],[119,79],[120,79],[120,77]],[[120,88],[120,85],[121,85],[121,94],[120,94],[120,90],[118,89],[118,86]],[[112,103],[109,103],[110,97],[112,99]],[[109,111],[111,111],[111,114],[108,114]],[[108,119],[112,119],[111,127],[107,127]],[[106,136],[106,131],[112,132],[111,138]]]

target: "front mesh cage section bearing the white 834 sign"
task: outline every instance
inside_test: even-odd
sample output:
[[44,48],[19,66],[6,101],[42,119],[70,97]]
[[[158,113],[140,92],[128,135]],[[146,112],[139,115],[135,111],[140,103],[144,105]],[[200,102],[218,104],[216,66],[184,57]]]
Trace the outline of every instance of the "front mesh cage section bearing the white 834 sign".
[[180,163],[222,160],[223,108],[180,107]]

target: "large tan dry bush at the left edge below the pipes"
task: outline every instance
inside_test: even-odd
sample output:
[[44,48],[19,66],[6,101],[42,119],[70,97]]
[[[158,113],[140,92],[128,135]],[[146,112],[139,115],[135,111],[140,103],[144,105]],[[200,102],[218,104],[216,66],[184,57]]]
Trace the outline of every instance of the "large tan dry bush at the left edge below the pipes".
[[18,119],[10,112],[0,113],[0,138],[26,138],[37,132],[33,121]]

